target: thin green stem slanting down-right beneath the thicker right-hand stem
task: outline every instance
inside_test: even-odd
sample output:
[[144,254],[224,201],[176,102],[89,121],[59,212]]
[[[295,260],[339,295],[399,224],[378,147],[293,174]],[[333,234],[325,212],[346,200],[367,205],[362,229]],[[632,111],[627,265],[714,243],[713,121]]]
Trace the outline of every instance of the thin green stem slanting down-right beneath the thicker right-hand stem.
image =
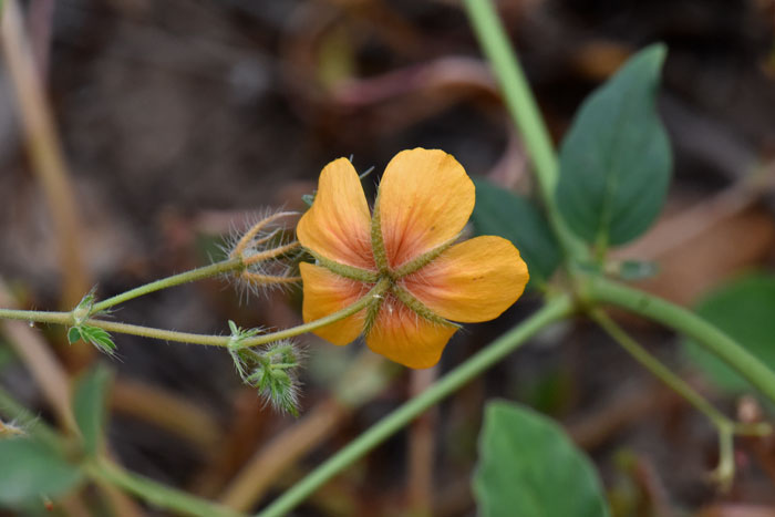
[[647,370],[654,374],[660,381],[670,386],[678,394],[686,399],[696,410],[703,413],[713,422],[713,425],[721,433],[722,430],[734,427],[734,422],[720,412],[704,396],[698,393],[688,382],[675,375],[657,358],[651,355],[643,347],[632,339],[624,330],[619,327],[608,314],[601,310],[592,310],[589,314],[600,327],[608,332],[627,352],[632,355],[636,361],[641,363]]

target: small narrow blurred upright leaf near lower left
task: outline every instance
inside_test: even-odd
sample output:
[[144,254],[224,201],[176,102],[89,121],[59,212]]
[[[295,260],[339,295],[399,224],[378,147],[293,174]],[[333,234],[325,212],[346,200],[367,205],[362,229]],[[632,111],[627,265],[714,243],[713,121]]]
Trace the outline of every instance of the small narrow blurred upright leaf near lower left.
[[90,455],[96,454],[102,445],[110,382],[111,372],[97,365],[83,375],[75,386],[73,412],[83,437],[83,447]]

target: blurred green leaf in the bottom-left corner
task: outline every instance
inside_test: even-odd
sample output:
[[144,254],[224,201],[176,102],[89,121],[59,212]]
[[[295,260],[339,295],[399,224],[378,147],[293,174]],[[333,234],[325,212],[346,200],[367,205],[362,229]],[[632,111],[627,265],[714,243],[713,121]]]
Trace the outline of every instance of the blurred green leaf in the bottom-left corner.
[[78,466],[31,438],[0,440],[0,505],[7,507],[55,497],[82,478]]

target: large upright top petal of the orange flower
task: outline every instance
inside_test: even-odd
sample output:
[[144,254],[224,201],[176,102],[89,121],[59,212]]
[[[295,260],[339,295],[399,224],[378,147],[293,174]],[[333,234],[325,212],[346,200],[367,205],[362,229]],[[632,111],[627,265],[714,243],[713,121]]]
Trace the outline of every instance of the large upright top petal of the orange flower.
[[380,184],[382,237],[396,268],[461,232],[474,210],[474,183],[438,149],[402,151]]

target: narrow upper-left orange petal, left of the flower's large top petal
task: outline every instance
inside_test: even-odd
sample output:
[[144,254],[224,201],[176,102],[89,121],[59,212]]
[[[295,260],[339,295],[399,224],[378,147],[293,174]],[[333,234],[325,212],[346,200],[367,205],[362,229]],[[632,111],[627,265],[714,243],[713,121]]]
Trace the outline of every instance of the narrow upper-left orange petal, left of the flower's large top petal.
[[320,173],[314,203],[299,220],[296,234],[304,248],[328,259],[375,269],[369,205],[349,159],[333,161]]

